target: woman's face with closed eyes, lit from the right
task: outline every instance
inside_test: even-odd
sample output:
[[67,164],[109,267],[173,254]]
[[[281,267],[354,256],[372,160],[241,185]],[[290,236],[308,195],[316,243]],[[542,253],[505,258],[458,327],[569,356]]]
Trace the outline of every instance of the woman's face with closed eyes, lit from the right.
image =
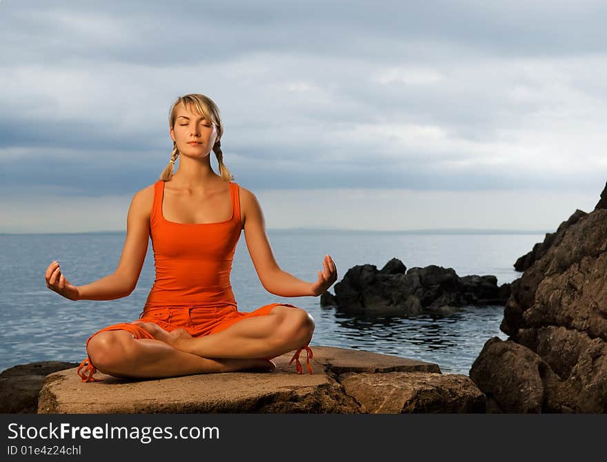
[[192,110],[195,108],[191,105],[188,109],[178,106],[175,127],[170,129],[170,135],[182,155],[208,155],[217,139],[217,127]]

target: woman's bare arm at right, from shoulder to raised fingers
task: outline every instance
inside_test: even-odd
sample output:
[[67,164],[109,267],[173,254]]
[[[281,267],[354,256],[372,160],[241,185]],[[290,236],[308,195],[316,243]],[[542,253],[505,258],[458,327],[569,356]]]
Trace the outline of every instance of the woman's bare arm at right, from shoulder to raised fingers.
[[319,296],[326,291],[337,279],[335,264],[330,257],[326,256],[326,266],[323,273],[319,271],[319,279],[316,282],[306,282],[283,271],[272,253],[266,235],[266,220],[255,194],[243,187],[240,187],[240,191],[246,244],[261,285],[268,292],[280,297]]

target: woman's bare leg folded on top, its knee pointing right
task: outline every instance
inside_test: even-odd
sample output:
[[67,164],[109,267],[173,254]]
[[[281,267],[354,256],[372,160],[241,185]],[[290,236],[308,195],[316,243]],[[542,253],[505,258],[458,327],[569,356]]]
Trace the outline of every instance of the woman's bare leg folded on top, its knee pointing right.
[[167,332],[154,323],[133,324],[181,352],[203,358],[275,358],[308,343],[315,328],[307,311],[285,305],[202,337],[192,337],[186,329]]

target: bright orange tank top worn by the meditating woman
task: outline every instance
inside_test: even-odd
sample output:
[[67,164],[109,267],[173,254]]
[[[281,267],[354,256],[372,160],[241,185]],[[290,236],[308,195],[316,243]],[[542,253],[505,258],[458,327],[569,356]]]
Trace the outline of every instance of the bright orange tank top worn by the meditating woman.
[[169,305],[237,308],[230,272],[242,229],[238,184],[229,183],[232,215],[228,220],[183,224],[162,214],[164,183],[154,184],[150,236],[156,278],[143,310]]

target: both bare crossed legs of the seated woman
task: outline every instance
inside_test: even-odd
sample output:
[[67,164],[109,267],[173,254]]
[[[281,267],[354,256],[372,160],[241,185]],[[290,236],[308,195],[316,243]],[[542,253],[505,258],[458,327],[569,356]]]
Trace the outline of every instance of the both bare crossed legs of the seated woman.
[[271,372],[276,366],[265,358],[308,343],[315,327],[306,311],[284,305],[277,305],[267,316],[239,320],[223,331],[197,338],[186,329],[168,333],[154,323],[133,324],[148,330],[155,339],[135,339],[124,330],[99,332],[87,346],[88,356],[99,371],[126,378]]

